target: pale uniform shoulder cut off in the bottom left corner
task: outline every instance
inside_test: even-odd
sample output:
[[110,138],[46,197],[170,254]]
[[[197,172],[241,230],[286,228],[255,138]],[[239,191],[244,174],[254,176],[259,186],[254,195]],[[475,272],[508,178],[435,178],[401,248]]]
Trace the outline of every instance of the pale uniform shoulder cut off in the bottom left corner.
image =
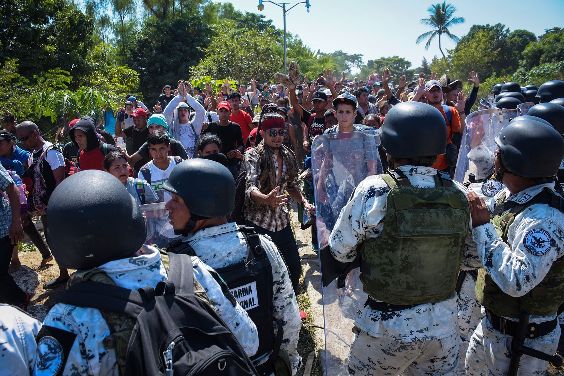
[[36,360],[41,322],[21,309],[0,304],[0,375],[29,375]]

